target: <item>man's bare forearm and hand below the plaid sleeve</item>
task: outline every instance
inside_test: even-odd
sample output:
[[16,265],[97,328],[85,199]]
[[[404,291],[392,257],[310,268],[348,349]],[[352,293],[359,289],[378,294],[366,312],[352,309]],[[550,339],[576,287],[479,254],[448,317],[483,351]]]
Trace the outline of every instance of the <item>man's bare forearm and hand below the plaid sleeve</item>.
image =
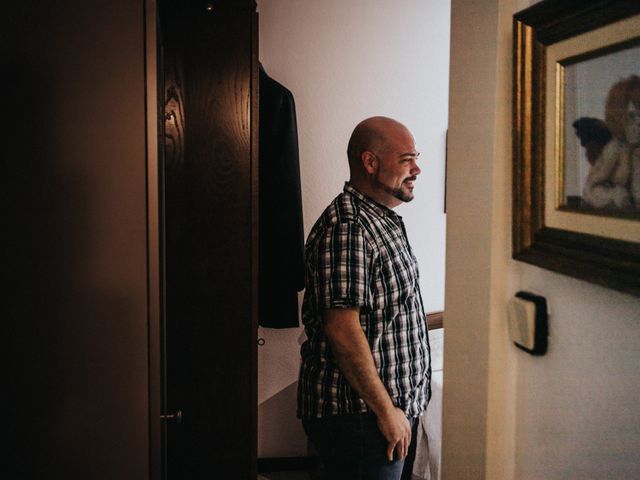
[[378,427],[389,442],[387,456],[393,461],[405,458],[411,443],[411,426],[404,412],[391,401],[375,364],[367,338],[360,326],[358,308],[332,308],[324,313],[324,331],[340,371],[378,420]]

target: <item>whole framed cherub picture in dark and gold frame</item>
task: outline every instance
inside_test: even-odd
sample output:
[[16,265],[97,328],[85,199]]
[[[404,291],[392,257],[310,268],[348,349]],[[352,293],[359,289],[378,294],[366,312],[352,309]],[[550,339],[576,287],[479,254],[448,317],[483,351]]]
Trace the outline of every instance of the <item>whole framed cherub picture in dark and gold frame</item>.
[[513,257],[640,296],[640,2],[514,15]]

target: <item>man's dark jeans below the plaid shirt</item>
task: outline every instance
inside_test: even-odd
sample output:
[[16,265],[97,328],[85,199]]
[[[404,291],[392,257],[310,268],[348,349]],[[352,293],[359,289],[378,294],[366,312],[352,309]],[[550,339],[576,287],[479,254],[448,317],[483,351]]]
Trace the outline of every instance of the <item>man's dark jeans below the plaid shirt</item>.
[[[411,419],[409,419],[411,423]],[[387,458],[387,440],[371,413],[304,418],[327,480],[399,480],[404,460]]]

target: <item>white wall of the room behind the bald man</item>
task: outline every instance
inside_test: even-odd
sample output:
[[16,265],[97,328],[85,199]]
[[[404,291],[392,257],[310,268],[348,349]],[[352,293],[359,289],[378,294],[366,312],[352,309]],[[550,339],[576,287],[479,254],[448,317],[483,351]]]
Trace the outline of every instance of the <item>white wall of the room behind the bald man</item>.
[[[296,99],[305,234],[348,179],[354,126],[387,115],[413,131],[422,175],[398,209],[428,311],[444,305],[444,153],[449,2],[262,0],[260,59]],[[260,329],[260,457],[306,454],[295,415],[301,329]],[[293,410],[292,410],[293,408]]]

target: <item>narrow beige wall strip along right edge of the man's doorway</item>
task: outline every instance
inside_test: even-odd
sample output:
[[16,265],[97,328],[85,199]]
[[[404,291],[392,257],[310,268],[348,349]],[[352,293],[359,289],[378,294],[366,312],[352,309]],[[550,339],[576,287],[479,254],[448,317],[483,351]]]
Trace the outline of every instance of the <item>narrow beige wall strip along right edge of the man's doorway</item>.
[[451,6],[442,478],[484,478],[499,2]]

